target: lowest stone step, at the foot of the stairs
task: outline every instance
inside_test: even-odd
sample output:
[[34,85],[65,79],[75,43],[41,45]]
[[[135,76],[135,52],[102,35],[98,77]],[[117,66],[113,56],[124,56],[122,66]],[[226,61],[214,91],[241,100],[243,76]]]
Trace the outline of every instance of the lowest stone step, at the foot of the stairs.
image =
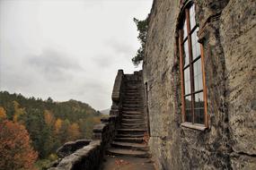
[[146,151],[132,149],[107,149],[107,155],[120,157],[150,157]]

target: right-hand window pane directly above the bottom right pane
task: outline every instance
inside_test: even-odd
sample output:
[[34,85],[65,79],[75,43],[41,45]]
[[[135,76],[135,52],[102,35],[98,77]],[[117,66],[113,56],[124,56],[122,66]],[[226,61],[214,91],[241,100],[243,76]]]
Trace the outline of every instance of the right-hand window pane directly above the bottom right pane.
[[203,89],[201,58],[193,64],[195,91]]

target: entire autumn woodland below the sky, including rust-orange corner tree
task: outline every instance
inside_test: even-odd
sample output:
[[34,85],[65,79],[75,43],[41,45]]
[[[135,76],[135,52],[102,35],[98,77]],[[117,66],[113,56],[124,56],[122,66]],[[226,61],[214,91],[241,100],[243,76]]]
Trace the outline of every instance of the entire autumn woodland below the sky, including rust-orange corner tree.
[[73,99],[43,101],[1,91],[0,169],[33,169],[36,160],[56,159],[56,150],[66,141],[91,139],[101,117],[92,106]]

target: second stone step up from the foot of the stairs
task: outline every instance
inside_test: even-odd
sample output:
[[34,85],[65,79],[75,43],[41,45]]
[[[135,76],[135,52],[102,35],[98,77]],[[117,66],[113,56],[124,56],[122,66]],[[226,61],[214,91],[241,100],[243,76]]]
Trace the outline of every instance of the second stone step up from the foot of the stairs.
[[117,149],[132,149],[132,150],[144,150],[144,151],[148,150],[148,147],[144,143],[129,143],[129,142],[113,141],[111,143],[111,146]]

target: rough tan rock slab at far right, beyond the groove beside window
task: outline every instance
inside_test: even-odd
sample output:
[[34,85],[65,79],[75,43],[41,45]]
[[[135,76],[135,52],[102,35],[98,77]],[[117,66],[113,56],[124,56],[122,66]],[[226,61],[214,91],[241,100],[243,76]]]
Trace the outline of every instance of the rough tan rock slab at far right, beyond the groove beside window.
[[[226,100],[236,169],[256,168],[256,2],[234,1],[221,15]],[[254,156],[254,157],[252,157]],[[252,168],[254,166],[254,168]]]

